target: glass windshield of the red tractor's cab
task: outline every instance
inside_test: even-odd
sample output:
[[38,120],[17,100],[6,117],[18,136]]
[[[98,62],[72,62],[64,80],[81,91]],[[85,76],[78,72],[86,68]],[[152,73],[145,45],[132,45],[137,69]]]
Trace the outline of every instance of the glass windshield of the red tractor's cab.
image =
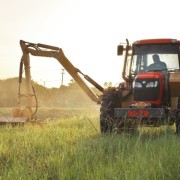
[[162,69],[179,70],[179,46],[179,44],[134,45],[131,75],[147,71],[150,67],[151,70],[156,70],[157,66],[154,66],[155,60],[153,59],[155,56],[158,56],[159,64],[163,64]]

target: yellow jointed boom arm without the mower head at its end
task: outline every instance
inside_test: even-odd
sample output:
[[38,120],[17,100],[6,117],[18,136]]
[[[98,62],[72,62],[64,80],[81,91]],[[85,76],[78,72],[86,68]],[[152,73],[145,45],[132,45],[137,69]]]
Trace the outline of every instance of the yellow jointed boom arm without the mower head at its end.
[[[66,71],[72,76],[72,78],[77,82],[77,84],[84,90],[84,92],[91,98],[92,101],[97,103],[100,102],[100,98],[96,95],[85,83],[85,81],[80,77],[79,73],[84,76],[84,78],[93,84],[100,91],[104,91],[104,89],[92,80],[89,76],[84,75],[79,69],[73,66],[73,64],[66,58],[64,52],[61,48],[45,45],[45,44],[34,44],[30,42],[25,42],[20,40],[20,46],[23,52],[21,58],[21,65],[23,64],[25,67],[25,79],[26,79],[26,90],[27,94],[31,94],[31,75],[30,75],[30,58],[29,54],[33,56],[42,56],[42,57],[52,57],[59,61],[59,63],[66,69]],[[21,72],[22,70],[20,70]],[[21,73],[20,73],[21,74]],[[22,76],[22,75],[20,75]],[[29,102],[29,106],[30,102]]]

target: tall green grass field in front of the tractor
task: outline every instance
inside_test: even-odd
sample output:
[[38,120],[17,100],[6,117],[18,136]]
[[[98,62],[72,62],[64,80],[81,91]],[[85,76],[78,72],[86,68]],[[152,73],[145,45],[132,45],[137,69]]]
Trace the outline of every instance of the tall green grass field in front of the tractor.
[[[180,179],[180,137],[174,127],[101,135],[97,110],[41,112],[53,120],[0,127],[0,179]],[[64,117],[58,118],[60,112]]]

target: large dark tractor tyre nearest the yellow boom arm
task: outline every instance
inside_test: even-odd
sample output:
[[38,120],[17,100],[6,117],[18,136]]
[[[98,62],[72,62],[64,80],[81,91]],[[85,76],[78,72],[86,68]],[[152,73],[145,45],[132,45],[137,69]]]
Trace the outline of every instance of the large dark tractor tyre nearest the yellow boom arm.
[[111,132],[115,123],[114,108],[121,108],[121,92],[111,88],[104,93],[100,108],[101,133]]

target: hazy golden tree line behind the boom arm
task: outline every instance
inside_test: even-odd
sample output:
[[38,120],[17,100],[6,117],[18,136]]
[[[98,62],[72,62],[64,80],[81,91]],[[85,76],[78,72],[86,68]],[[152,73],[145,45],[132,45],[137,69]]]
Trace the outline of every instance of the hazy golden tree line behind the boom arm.
[[[96,106],[78,84],[71,80],[68,86],[61,85],[60,88],[46,88],[32,81],[35,90],[38,106],[41,107],[65,107],[65,108],[86,108]],[[96,94],[100,92],[92,88]],[[0,107],[16,107],[19,103],[18,95],[26,93],[25,80],[19,86],[18,78],[0,80]],[[34,98],[33,105],[37,103]],[[20,101],[25,104],[24,98]]]

